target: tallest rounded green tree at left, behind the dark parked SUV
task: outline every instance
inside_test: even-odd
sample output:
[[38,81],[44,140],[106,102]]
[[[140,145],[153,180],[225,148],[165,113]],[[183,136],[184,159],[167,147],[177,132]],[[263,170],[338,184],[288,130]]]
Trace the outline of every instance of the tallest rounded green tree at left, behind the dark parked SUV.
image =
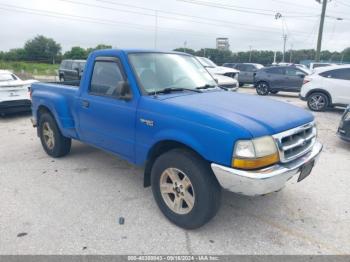
[[52,62],[58,57],[61,51],[61,45],[56,43],[52,38],[42,35],[28,40],[24,45],[27,60]]

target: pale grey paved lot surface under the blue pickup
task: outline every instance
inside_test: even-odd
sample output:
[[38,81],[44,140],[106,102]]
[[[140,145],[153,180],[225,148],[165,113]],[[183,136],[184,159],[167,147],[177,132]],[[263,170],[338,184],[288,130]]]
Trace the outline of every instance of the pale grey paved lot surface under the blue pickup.
[[[271,98],[306,108],[296,95]],[[315,114],[324,151],[310,177],[263,197],[225,192],[218,215],[194,231],[160,213],[142,169],[79,142],[52,159],[29,114],[0,118],[0,254],[350,254],[341,113]]]

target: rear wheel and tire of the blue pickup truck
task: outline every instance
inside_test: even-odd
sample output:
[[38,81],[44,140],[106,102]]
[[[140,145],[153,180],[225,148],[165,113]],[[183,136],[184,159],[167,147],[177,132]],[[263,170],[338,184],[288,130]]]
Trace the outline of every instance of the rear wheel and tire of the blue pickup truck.
[[43,113],[39,119],[39,136],[45,152],[52,157],[62,157],[69,153],[71,139],[64,137],[54,117]]

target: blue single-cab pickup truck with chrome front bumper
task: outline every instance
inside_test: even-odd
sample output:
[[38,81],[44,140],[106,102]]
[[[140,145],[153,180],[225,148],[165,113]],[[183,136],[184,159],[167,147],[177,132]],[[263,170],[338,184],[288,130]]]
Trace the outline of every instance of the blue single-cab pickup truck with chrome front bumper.
[[183,53],[95,51],[80,83],[35,83],[31,97],[47,154],[67,155],[76,139],[144,166],[161,211],[187,229],[214,217],[222,188],[279,191],[322,150],[310,113],[226,91]]

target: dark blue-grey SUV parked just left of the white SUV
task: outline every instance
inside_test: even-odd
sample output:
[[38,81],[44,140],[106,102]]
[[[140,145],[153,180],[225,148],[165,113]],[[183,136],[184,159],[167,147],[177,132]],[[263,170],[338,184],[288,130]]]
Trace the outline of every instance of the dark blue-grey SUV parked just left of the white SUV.
[[277,94],[279,91],[299,92],[308,73],[295,66],[271,66],[255,74],[255,88],[259,95]]

